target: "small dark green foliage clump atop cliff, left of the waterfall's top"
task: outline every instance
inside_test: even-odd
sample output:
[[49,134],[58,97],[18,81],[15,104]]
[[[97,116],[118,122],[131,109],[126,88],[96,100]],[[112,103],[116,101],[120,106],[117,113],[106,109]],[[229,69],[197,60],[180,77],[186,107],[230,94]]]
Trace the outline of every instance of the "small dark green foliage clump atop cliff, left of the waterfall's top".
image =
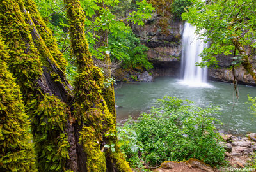
[[180,20],[182,13],[188,10],[188,6],[190,6],[191,0],[175,0],[172,3],[172,14],[173,16]]

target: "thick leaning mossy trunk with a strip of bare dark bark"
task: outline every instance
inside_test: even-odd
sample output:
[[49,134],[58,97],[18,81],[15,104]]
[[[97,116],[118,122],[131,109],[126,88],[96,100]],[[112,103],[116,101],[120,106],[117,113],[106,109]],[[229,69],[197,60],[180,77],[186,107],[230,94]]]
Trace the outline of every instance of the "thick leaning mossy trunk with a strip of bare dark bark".
[[64,171],[74,138],[67,132],[67,104],[73,97],[56,41],[30,0],[0,1],[0,34],[10,54],[8,69],[31,119],[36,166],[39,171]]

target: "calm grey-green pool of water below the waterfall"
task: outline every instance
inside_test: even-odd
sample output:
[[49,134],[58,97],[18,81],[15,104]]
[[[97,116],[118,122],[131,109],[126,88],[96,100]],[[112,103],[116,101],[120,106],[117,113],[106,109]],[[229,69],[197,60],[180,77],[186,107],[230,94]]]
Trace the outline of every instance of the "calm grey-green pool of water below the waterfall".
[[[256,132],[256,115],[250,113],[247,94],[256,96],[256,87],[239,85],[239,100],[236,103],[234,87],[231,83],[209,81],[204,87],[190,87],[181,80],[170,77],[156,78],[154,82],[123,83],[115,89],[116,116],[118,122],[130,115],[134,118],[140,113],[150,111],[157,99],[164,96],[189,99],[198,106],[214,104],[220,107],[221,114],[215,117],[225,123],[220,129],[230,130],[232,134]],[[234,99],[234,101],[233,101]],[[230,120],[230,115],[232,118]],[[228,124],[230,120],[230,123]]]

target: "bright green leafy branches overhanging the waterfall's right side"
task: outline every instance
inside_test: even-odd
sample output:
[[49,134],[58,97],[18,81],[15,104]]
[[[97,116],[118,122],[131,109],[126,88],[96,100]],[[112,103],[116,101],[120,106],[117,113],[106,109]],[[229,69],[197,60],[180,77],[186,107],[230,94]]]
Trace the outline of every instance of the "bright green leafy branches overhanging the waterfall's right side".
[[[218,0],[209,1],[205,4],[200,0],[191,0],[187,13],[183,13],[183,20],[196,25],[196,32],[205,41],[210,42],[209,48],[202,52],[202,63],[200,66],[217,64],[216,55],[234,54],[236,40],[241,45],[246,45],[247,52],[236,54],[252,55],[256,48],[255,25],[256,25],[256,4],[254,0]],[[236,60],[236,59],[235,59]],[[244,59],[243,59],[244,60]],[[241,61],[235,61],[240,64]]]

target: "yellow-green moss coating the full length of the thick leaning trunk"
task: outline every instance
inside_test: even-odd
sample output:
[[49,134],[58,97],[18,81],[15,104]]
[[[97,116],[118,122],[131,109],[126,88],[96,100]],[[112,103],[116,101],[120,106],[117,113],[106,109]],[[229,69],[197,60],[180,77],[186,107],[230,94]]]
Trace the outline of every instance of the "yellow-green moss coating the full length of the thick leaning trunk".
[[[29,8],[28,2],[26,8]],[[22,0],[0,3],[0,34],[10,54],[6,62],[22,88],[32,122],[39,171],[64,171],[69,147],[64,129],[67,108],[57,96],[44,94],[43,87],[47,87],[47,83],[42,72],[42,66],[47,66],[48,72],[58,80],[53,68],[56,70],[59,66],[51,54],[54,50],[48,49],[31,18],[38,15],[36,9],[31,10],[35,6],[30,6],[29,13],[26,8]],[[37,38],[35,35],[32,38],[31,34],[35,33]],[[44,86],[40,87],[40,84]]]

